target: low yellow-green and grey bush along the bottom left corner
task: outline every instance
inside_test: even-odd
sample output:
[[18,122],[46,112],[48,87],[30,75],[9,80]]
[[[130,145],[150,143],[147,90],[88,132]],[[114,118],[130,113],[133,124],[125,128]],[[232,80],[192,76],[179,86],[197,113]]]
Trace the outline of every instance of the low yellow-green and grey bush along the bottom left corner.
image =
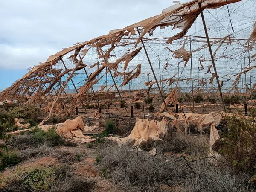
[[18,167],[0,181],[1,190],[14,192],[86,192],[93,184],[74,176],[67,165]]

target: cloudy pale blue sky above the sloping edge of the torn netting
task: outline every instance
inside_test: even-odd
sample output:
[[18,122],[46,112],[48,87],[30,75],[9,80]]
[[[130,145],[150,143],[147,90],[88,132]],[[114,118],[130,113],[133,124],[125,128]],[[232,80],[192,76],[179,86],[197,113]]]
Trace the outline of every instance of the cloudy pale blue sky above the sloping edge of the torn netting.
[[166,0],[0,0],[0,89],[64,47],[158,15],[172,5]]

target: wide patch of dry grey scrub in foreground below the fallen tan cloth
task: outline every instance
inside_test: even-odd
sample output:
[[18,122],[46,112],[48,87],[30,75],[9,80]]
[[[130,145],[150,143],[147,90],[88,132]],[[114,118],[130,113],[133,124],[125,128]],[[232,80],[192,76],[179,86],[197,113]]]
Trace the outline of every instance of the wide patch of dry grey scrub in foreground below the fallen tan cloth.
[[[185,156],[152,157],[118,145],[99,145],[98,164],[102,175],[131,192],[160,192],[168,185],[170,191],[245,192],[254,190],[247,174],[212,165],[205,158]],[[178,187],[177,187],[178,186]]]

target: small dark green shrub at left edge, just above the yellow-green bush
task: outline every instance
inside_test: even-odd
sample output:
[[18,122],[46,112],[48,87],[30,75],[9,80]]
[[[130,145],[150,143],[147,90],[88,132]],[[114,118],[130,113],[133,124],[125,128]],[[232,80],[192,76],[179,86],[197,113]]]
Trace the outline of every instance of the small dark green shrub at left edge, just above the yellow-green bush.
[[16,151],[4,151],[1,157],[0,170],[20,162]]

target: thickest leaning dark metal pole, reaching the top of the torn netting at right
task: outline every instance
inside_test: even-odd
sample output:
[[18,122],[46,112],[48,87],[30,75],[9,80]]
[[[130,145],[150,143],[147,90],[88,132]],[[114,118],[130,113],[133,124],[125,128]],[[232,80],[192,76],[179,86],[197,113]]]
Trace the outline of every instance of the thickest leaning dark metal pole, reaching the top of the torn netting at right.
[[215,77],[216,77],[216,81],[217,81],[217,84],[218,84],[218,91],[219,91],[220,96],[221,96],[221,102],[222,102],[222,105],[223,105],[223,110],[226,113],[226,108],[225,108],[225,104],[224,104],[224,100],[223,100],[223,96],[222,96],[222,92],[221,92],[221,85],[220,85],[220,82],[219,82],[219,79],[218,79],[217,69],[216,69],[214,58],[213,58],[213,55],[212,55],[212,48],[211,48],[211,44],[210,44],[210,41],[209,41],[209,36],[208,36],[208,32],[207,32],[207,28],[206,28],[206,24],[205,24],[205,20],[204,20],[204,14],[203,14],[201,2],[198,2],[198,5],[199,5],[199,8],[200,8],[201,17],[202,17],[202,21],[203,21],[203,24],[204,24],[204,32],[205,32],[205,36],[207,38],[207,44],[208,44],[208,47],[209,47],[209,52],[210,52],[210,55],[211,55],[211,58],[212,58],[212,65],[213,65],[213,68],[214,68]]

